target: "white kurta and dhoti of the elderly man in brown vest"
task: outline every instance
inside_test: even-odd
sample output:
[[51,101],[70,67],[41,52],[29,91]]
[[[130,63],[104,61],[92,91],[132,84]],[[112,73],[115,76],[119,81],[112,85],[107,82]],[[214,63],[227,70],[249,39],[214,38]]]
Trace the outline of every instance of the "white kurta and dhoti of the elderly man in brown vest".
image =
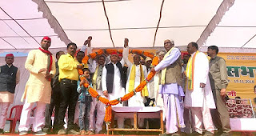
[[[174,48],[162,62],[154,67],[154,70],[158,72],[165,69],[176,62],[180,55],[180,50]],[[182,86],[179,86],[178,83],[159,85],[159,94],[162,94],[164,102],[166,134],[173,134],[178,131],[178,127],[185,127],[181,109],[183,104],[182,97],[184,96]]]

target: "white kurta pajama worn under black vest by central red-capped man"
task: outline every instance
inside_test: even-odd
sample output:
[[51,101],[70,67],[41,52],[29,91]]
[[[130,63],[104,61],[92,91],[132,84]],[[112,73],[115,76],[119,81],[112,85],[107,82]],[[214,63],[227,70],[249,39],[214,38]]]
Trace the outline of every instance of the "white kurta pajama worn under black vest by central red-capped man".
[[[121,81],[121,74],[120,71],[118,69],[118,66],[116,64],[114,64],[113,62],[111,62],[114,66],[114,80],[113,80],[113,90],[112,93],[109,93],[108,95],[108,99],[109,100],[114,100],[117,98],[121,98],[123,95],[125,95],[125,89],[122,87],[122,81]],[[124,66],[124,61],[123,59],[120,61],[120,63],[122,64],[122,66]],[[104,66],[103,71],[102,71],[102,90],[107,90],[106,88],[106,66]],[[115,106],[122,106],[121,103],[118,103]],[[116,117],[118,118],[118,128],[124,128],[124,118],[123,117],[118,117],[118,115],[116,115]]]

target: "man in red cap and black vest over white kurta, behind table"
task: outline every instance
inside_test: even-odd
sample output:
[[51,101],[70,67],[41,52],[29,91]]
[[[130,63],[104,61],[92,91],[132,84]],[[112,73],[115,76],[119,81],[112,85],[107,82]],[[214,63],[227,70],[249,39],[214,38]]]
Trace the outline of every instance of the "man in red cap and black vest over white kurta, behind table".
[[[114,52],[110,56],[111,62],[109,64],[106,64],[102,70],[102,90],[104,96],[108,98],[109,100],[114,100],[117,98],[121,98],[123,95],[125,95],[125,89],[124,86],[124,77],[123,77],[123,71],[122,67],[124,66],[124,61],[123,59],[118,62],[118,54]],[[107,67],[111,66],[111,73],[109,72],[110,70],[107,70]],[[113,73],[112,73],[113,72]],[[110,78],[110,76],[112,78]],[[111,84],[112,88],[108,88]],[[115,106],[122,106],[121,103],[118,103]],[[123,128],[124,127],[124,118],[123,117],[118,117],[118,128]]]

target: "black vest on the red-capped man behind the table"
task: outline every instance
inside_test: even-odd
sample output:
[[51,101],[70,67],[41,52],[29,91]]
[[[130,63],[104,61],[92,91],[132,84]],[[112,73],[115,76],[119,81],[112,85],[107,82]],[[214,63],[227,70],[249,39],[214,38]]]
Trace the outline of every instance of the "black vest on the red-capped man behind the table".
[[[122,82],[122,87],[126,86],[126,80],[123,75],[123,70],[122,70],[122,64],[120,62],[117,62],[118,70],[120,71],[121,74],[121,82]],[[114,83],[114,66],[112,63],[106,64],[106,88],[108,93],[112,93],[113,91],[113,83]]]

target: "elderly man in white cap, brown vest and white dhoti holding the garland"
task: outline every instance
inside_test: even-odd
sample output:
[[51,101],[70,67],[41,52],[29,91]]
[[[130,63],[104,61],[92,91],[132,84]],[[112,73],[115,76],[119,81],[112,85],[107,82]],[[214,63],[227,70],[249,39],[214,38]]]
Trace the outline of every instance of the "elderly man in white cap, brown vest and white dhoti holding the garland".
[[179,135],[178,128],[185,127],[181,107],[182,97],[184,97],[181,80],[181,52],[174,47],[173,40],[166,39],[164,47],[167,53],[151,71],[161,70],[159,94],[162,94],[166,111],[166,135]]

